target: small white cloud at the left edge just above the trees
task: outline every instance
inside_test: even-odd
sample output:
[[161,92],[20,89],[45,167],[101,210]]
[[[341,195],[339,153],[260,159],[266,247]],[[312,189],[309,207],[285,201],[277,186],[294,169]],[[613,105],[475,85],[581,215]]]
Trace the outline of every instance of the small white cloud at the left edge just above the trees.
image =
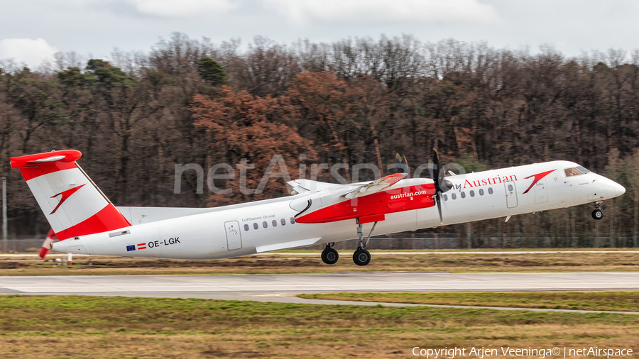
[[0,59],[13,58],[16,62],[26,62],[35,67],[45,57],[51,57],[58,48],[49,45],[43,38],[6,38],[0,40]]

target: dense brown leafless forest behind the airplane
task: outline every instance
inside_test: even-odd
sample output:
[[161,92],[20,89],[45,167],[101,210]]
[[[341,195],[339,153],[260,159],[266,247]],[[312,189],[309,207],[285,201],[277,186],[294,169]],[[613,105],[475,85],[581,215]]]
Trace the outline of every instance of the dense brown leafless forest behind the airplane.
[[386,168],[395,153],[414,170],[435,145],[445,162],[472,169],[574,160],[628,189],[603,205],[603,221],[582,206],[439,232],[543,234],[569,237],[570,245],[596,233],[611,245],[637,244],[639,50],[568,58],[550,47],[532,54],[408,35],[292,45],[256,38],[242,50],[239,40],[215,45],[175,33],[148,53],[116,50],[108,60],[67,53],[38,70],[8,60],[0,68],[11,233],[46,231],[9,170],[11,156],[75,148],[118,205],[217,206],[286,188],[271,180],[262,193],[197,194],[195,172],[187,171],[174,194],[175,164],[236,167],[246,158],[255,165],[247,184],[256,187],[276,153],[292,173],[339,163],[349,179],[353,165]]

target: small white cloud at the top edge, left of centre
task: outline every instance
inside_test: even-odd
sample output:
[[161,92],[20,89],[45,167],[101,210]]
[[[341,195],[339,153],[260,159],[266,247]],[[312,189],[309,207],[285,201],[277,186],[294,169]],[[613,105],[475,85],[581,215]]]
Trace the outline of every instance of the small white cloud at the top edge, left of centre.
[[128,0],[128,2],[141,13],[163,17],[226,13],[236,7],[232,0]]

